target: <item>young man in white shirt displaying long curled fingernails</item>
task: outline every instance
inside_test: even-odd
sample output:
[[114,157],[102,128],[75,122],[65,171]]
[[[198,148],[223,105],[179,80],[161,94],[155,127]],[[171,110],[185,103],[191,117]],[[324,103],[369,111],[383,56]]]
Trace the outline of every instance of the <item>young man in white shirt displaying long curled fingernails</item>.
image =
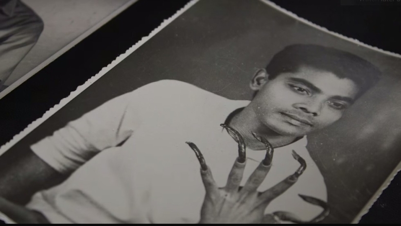
[[[0,192],[10,201],[22,188],[33,187],[35,194],[26,209],[8,203],[0,210],[10,215],[15,209],[27,211],[51,223],[260,223],[261,216],[278,211],[309,221],[322,209],[298,195],[327,202],[327,191],[306,148],[306,136],[338,121],[379,75],[375,66],[349,52],[296,44],[256,72],[250,82],[252,101],[229,100],[174,80],[148,84],[32,145],[33,153],[19,162],[27,167],[10,167],[0,181],[8,187],[1,186]],[[238,137],[222,123],[237,131],[246,146],[246,166],[236,188],[248,188],[247,178],[265,159],[261,139],[268,140],[274,155],[258,192],[292,178],[299,169],[294,157],[306,163],[302,175],[277,191],[262,215],[247,214],[246,207],[235,209],[244,216],[230,215],[230,208],[219,215],[205,198],[208,181],[199,174],[198,159],[186,142],[201,150],[215,187],[227,188],[227,176],[237,164],[233,167]],[[60,183],[60,175],[68,178]],[[48,181],[57,182],[44,189],[41,183]],[[230,195],[226,198],[229,202]]]

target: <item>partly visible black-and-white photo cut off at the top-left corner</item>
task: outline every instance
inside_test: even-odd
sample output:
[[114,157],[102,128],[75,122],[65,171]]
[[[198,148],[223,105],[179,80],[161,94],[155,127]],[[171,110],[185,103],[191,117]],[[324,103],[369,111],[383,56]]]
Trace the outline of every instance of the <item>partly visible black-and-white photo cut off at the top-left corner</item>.
[[137,0],[0,0],[0,98]]

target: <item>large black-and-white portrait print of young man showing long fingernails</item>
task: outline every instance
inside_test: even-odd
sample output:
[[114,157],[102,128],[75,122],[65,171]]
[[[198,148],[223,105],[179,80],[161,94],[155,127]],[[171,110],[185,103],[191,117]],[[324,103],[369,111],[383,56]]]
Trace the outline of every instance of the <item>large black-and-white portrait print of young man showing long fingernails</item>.
[[401,55],[193,0],[0,148],[16,223],[358,223],[400,169]]

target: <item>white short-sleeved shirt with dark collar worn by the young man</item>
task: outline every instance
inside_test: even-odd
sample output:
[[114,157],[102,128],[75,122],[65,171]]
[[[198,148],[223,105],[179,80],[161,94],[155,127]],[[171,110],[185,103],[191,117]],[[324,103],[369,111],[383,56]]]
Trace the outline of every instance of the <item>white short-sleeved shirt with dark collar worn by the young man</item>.
[[[224,187],[238,144],[220,124],[247,104],[173,80],[114,98],[31,147],[60,173],[76,171],[62,184],[36,193],[27,207],[41,211],[51,223],[197,223],[205,189],[200,164],[185,142],[198,146]],[[266,213],[289,211],[311,220],[322,211],[298,196],[327,201],[324,179],[306,144],[303,138],[275,149],[259,191],[296,171],[299,163],[292,150],[307,168]],[[265,151],[247,149],[246,155],[242,185]]]

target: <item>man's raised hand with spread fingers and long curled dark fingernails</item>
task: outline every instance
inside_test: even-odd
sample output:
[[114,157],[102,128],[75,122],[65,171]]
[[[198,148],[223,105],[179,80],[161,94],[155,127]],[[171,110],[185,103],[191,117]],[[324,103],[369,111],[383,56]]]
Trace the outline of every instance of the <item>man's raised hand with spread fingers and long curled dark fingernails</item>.
[[[227,184],[224,188],[217,187],[211,174],[211,170],[206,165],[205,159],[196,145],[187,142],[195,152],[201,164],[201,176],[206,189],[205,200],[201,209],[201,220],[199,223],[259,224],[274,223],[278,220],[304,223],[291,213],[280,211],[265,215],[264,211],[272,200],[287,191],[296,183],[298,177],[306,169],[305,160],[293,151],[294,158],[301,166],[294,174],[288,176],[277,185],[266,191],[259,192],[257,189],[262,184],[271,168],[273,147],[266,139],[253,134],[256,139],[266,145],[266,157],[249,176],[244,187],[240,187],[246,164],[244,140],[237,131],[227,125],[222,124],[222,126],[235,135],[239,144],[239,157],[234,162],[231,172],[228,175]],[[321,220],[328,214],[327,205],[325,205],[323,201],[305,195],[300,195],[300,197],[309,203],[325,207],[323,213],[315,219]]]

